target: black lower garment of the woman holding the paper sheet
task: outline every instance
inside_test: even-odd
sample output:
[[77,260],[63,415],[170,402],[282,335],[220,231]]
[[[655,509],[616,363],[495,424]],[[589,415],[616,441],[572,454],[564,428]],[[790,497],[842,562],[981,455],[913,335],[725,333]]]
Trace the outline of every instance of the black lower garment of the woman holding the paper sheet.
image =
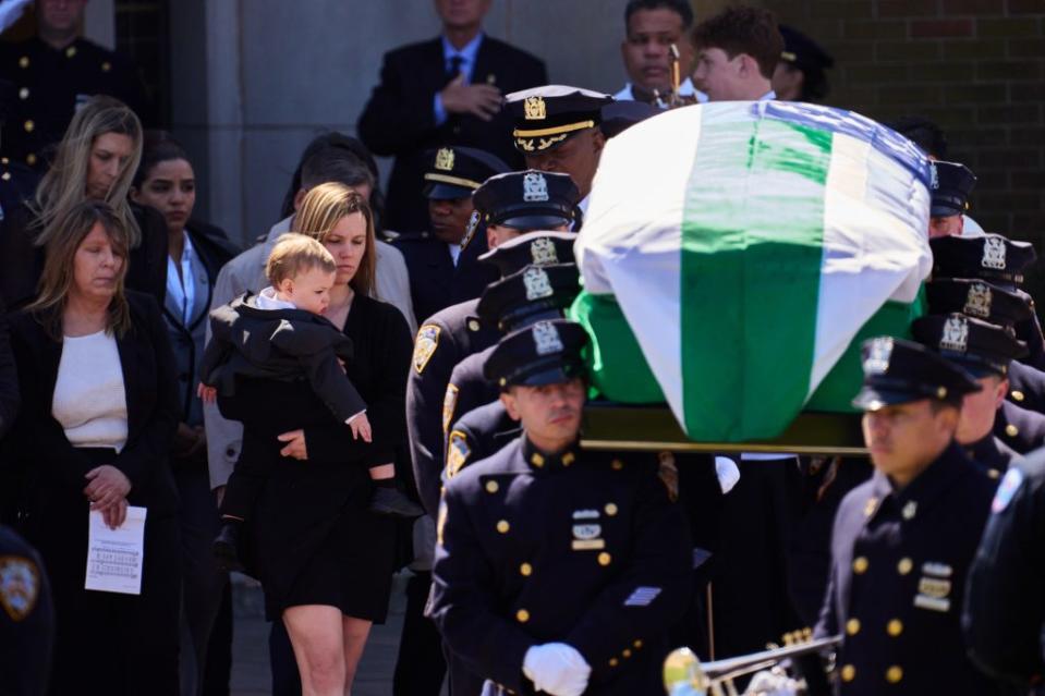
[[85,590],[87,502],[80,491],[56,491],[50,499],[49,512],[34,514],[26,525],[51,577],[54,599],[49,693],[178,696],[178,521],[146,520],[141,595]]

